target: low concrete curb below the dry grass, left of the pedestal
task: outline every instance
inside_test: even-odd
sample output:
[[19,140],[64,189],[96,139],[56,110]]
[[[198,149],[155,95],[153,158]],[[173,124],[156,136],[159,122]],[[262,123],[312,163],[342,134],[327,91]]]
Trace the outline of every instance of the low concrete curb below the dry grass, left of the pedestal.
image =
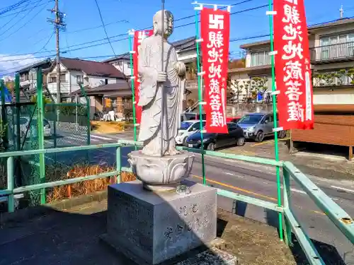
[[82,204],[88,204],[93,201],[103,201],[104,199],[107,199],[107,191],[84,194],[72,199],[55,201],[51,204],[23,208],[14,213],[0,213],[0,227],[6,223],[21,222],[22,220],[28,220],[37,216],[45,216],[52,212],[62,211]]

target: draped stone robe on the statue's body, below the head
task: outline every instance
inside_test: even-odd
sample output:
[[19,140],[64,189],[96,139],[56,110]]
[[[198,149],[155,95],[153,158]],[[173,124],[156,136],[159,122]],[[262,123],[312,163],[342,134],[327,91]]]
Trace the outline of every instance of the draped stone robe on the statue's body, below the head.
[[161,36],[152,35],[139,46],[138,74],[142,106],[139,141],[144,142],[142,153],[152,156],[174,155],[175,137],[181,124],[185,78],[174,69],[177,62],[176,49],[164,42],[164,71],[168,81],[157,82],[161,71]]

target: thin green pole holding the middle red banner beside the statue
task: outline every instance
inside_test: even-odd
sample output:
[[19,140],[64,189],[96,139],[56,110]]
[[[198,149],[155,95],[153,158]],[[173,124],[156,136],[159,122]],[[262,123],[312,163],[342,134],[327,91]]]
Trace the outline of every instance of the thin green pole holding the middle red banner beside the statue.
[[197,48],[197,73],[198,73],[198,101],[199,101],[199,124],[200,124],[200,149],[202,151],[202,184],[207,184],[205,178],[205,165],[204,165],[204,138],[202,132],[202,76],[200,75],[200,54],[199,54],[199,26],[198,26],[198,10],[195,11],[195,46]]

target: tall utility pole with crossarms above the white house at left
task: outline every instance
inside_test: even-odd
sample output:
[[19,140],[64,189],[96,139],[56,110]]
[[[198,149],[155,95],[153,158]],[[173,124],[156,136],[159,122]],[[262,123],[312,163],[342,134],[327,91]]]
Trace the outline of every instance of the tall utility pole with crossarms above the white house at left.
[[60,49],[59,49],[59,31],[64,29],[66,24],[63,22],[64,13],[59,11],[59,0],[55,0],[55,7],[50,10],[55,14],[55,19],[48,18],[48,21],[55,26],[55,37],[56,37],[56,47],[57,47],[57,103],[61,102],[60,95]]

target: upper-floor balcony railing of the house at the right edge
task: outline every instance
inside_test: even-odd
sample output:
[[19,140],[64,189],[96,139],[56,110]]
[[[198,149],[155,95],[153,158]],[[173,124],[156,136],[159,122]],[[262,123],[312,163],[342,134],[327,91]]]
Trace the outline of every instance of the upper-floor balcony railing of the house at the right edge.
[[311,61],[354,59],[354,42],[310,48]]

